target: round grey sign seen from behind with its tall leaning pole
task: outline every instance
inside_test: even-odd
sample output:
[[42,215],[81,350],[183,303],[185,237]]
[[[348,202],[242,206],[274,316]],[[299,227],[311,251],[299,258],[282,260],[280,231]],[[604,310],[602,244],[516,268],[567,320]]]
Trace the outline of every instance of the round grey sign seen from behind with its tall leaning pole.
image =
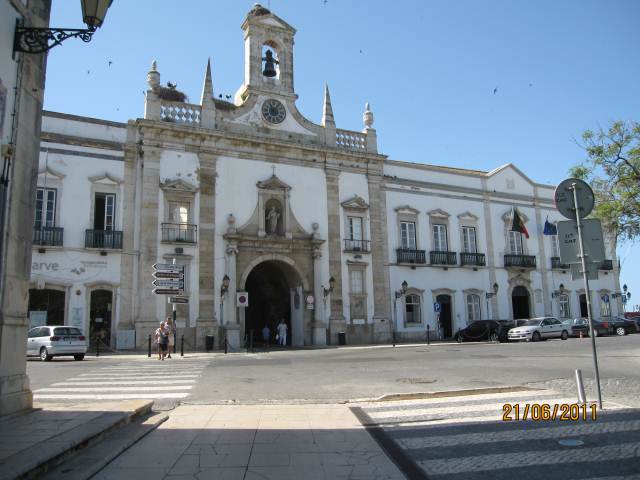
[[[593,334],[593,312],[591,310],[591,294],[589,293],[589,276],[587,271],[587,256],[584,253],[583,218],[591,213],[594,205],[594,195],[591,187],[582,180],[569,178],[558,185],[555,191],[556,208],[566,218],[576,220],[578,230],[578,244],[580,247],[580,264],[582,266],[582,278],[584,280],[585,297],[587,300],[587,316],[589,318],[589,334],[591,336],[591,349],[593,352],[593,367],[598,388],[598,407],[602,409],[602,391],[600,390],[600,372],[598,371],[598,354],[596,352],[596,339]],[[558,232],[559,233],[559,232]]]

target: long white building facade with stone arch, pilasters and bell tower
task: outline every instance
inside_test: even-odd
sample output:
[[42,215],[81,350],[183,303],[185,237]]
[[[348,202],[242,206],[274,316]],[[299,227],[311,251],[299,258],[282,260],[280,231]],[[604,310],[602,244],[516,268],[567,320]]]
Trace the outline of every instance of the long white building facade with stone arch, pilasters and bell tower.
[[[179,328],[197,348],[207,335],[238,347],[280,319],[301,346],[335,344],[338,332],[348,343],[435,338],[438,320],[448,337],[475,319],[584,314],[582,282],[543,234],[561,219],[552,186],[511,164],[390,160],[369,105],[361,132],[338,129],[328,89],[313,123],[295,103],[295,30],[260,6],[242,29],[233,102],[214,98],[209,64],[190,104],[160,85],[154,62],[144,118],[45,113],[32,320],[46,311],[111,347],[145,345],[171,310],[152,292],[153,264],[174,259],[189,299]],[[510,232],[514,208],[528,239]],[[597,317],[622,312],[615,246],[606,251],[591,283]]]

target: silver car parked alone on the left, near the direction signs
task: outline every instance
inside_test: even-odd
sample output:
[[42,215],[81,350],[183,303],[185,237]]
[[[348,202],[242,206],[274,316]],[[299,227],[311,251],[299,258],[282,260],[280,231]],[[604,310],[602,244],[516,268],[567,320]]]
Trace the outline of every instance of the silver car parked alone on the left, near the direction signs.
[[53,357],[71,356],[82,360],[87,353],[87,342],[76,327],[47,325],[35,327],[27,334],[27,356],[49,361]]

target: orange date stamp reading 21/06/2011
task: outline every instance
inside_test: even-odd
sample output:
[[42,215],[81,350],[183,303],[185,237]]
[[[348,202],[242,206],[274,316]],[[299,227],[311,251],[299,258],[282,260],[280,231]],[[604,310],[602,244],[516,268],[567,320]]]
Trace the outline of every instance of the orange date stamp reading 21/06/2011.
[[596,421],[597,405],[581,403],[505,403],[502,405],[502,420],[504,422],[532,420],[545,421]]

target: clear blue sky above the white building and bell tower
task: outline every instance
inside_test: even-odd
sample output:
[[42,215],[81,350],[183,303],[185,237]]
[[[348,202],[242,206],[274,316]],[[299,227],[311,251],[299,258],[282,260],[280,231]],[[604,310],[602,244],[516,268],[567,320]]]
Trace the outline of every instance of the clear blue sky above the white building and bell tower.
[[[79,3],[54,0],[51,25],[81,27]],[[211,57],[216,95],[235,93],[244,72],[240,25],[253,3],[115,0],[91,43],[73,39],[51,51],[45,108],[141,117],[152,59],[163,83],[177,82],[197,102]],[[575,143],[582,131],[640,120],[636,0],[270,6],[298,30],[301,112],[320,121],[325,82],[339,128],[360,130],[371,102],[379,147],[393,159],[481,170],[513,162],[535,181],[558,183],[584,158]],[[640,298],[640,258],[632,251],[619,249],[621,280]]]

